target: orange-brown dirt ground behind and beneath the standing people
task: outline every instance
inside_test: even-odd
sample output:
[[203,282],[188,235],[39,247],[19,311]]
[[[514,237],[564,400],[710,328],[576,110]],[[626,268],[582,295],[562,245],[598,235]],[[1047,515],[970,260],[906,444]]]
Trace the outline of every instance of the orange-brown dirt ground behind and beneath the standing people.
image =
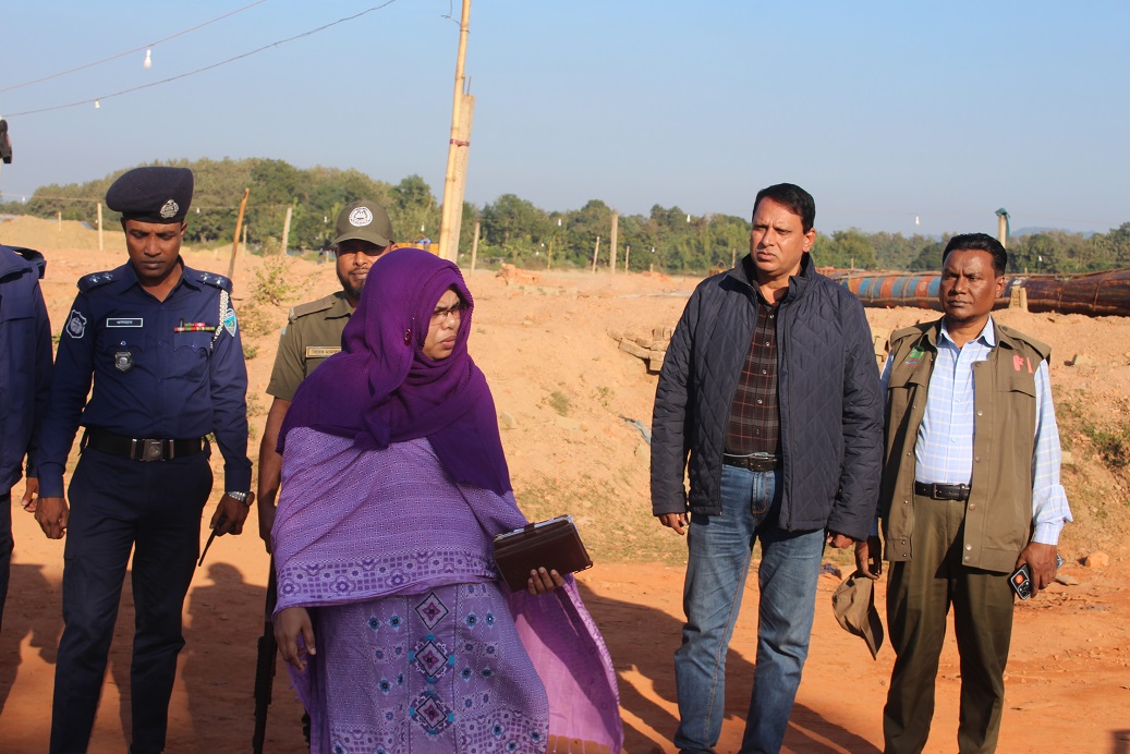
[[[43,288],[55,332],[66,321],[75,280],[125,260],[121,233],[106,233],[99,252],[96,234],[72,223],[10,220],[0,224],[0,243],[33,246],[47,257]],[[224,274],[229,249],[184,252],[190,266]],[[276,279],[289,291],[269,281],[271,265],[279,266]],[[673,752],[671,656],[681,625],[685,544],[650,517],[644,435],[655,376],[620,350],[617,338],[672,327],[695,279],[607,271],[541,271],[510,284],[485,270],[467,277],[477,304],[471,352],[495,395],[519,502],[531,518],[572,513],[597,562],[579,581],[616,664],[625,751]],[[262,258],[241,255],[235,285],[249,355],[254,456],[269,405],[263,389],[286,310],[333,291],[337,283],[329,265],[285,259],[264,267]],[[893,328],[931,317],[921,310],[869,311],[880,350]],[[1130,492],[1125,477],[1099,461],[1085,434],[1092,425],[1124,425],[1130,417],[1130,320],[1000,317],[1053,346],[1057,402],[1061,415],[1078,421],[1061,419],[1064,485],[1076,518],[1061,541],[1067,564],[1060,573],[1068,583],[1017,606],[999,751],[1128,754],[1130,548],[1123,543]],[[218,469],[218,453],[214,462]],[[12,518],[16,552],[0,634],[0,749],[43,751],[62,629],[63,544],[47,540],[15,504]],[[255,640],[263,629],[268,570],[255,529],[252,514],[242,537],[218,539],[190,590],[188,645],[169,712],[171,753],[250,748]],[[828,571],[846,575],[845,556],[828,553],[826,561]],[[878,659],[870,659],[862,640],[836,624],[831,596],[838,580],[831,572],[820,579],[810,656],[785,738],[789,752],[881,749],[881,707],[894,655],[884,645]],[[747,586],[731,643],[720,752],[738,749],[748,707],[755,581]],[[880,581],[880,613],[884,593]],[[127,581],[92,752],[122,752],[128,745],[132,623]],[[949,633],[928,752],[955,746],[960,678]],[[304,751],[299,716],[279,665],[266,751]]]

